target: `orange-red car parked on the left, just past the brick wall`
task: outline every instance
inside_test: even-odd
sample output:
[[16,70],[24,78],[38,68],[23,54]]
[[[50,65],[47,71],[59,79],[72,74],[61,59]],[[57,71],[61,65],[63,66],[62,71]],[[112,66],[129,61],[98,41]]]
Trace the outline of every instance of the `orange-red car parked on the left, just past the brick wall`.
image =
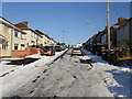
[[43,51],[44,51],[43,53],[44,55],[50,55],[50,56],[55,55],[54,46],[44,46]]

